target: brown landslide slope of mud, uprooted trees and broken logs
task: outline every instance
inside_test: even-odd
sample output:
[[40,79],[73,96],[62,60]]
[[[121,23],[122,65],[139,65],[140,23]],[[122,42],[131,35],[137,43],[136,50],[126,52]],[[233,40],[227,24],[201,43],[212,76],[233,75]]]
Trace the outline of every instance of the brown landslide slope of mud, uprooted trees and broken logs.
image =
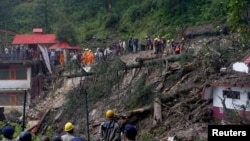
[[[190,28],[186,32],[190,32],[188,30]],[[153,51],[139,51],[115,57],[110,60],[112,63],[98,62],[92,66],[95,73],[84,77],[83,91],[79,77],[58,77],[56,88],[38,99],[30,109],[33,114],[33,109],[46,113],[39,134],[51,130],[62,134],[65,122],[72,121],[76,134],[87,138],[87,94],[91,140],[97,138],[98,127],[107,109],[115,110],[118,115],[130,115],[129,122],[138,127],[139,141],[166,140],[170,136],[180,141],[206,140],[207,125],[220,121],[213,119],[211,101],[202,100],[201,92],[213,80],[226,77],[220,72],[221,67],[229,67],[245,54],[228,50],[232,45],[228,35],[207,36],[205,28],[192,33],[198,31],[202,34],[189,40],[186,53],[165,56],[169,58],[167,65],[164,59],[156,59],[155,63],[133,68],[137,66],[133,64],[138,64],[136,58],[155,57]],[[224,55],[218,56],[218,52]],[[124,69],[124,65],[132,67]],[[162,107],[162,122],[153,125],[156,97]]]

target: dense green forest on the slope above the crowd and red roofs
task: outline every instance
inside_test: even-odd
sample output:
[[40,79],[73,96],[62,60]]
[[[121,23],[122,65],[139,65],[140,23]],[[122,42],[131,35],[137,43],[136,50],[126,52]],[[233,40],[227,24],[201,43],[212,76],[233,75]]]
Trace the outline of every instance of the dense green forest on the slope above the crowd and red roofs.
[[83,43],[93,37],[107,39],[114,33],[119,33],[112,37],[114,40],[129,36],[143,38],[145,35],[174,38],[176,32],[189,25],[220,25],[227,21],[232,31],[242,32],[246,38],[249,35],[246,34],[249,32],[247,2],[2,0],[0,21],[6,23],[7,30],[17,33],[30,33],[33,27],[42,27],[45,32],[56,33],[58,39],[67,38],[72,44]]

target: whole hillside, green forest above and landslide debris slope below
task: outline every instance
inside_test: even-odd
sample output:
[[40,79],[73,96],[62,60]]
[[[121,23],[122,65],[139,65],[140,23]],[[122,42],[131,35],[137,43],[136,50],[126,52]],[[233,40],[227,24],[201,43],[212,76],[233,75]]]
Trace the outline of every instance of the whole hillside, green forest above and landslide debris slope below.
[[[201,92],[214,81],[231,78],[221,68],[232,73],[232,63],[247,55],[248,13],[247,0],[2,0],[0,29],[29,33],[42,27],[58,40],[67,38],[92,50],[130,37],[138,38],[139,45],[145,36],[177,43],[184,37],[180,55],[168,52],[157,58],[154,51],[139,49],[97,62],[90,73],[75,62],[53,68],[52,75],[43,74],[45,85],[29,105],[27,121],[43,113],[38,136],[63,134],[64,124],[71,121],[76,135],[87,139],[89,131],[95,141],[105,111],[113,109],[138,127],[138,141],[173,136],[205,141],[207,125],[221,121],[213,118],[212,101],[202,100]],[[1,49],[12,40],[2,35]],[[157,103],[161,108],[155,108]],[[156,124],[155,111],[162,118]]]

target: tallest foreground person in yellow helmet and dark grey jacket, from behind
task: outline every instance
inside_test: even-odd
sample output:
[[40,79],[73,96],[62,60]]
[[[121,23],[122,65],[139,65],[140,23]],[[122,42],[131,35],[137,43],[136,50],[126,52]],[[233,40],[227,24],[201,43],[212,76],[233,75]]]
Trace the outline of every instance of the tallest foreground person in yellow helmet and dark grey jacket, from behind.
[[121,141],[120,125],[115,120],[113,110],[107,110],[105,113],[106,120],[101,123],[99,128],[100,141]]

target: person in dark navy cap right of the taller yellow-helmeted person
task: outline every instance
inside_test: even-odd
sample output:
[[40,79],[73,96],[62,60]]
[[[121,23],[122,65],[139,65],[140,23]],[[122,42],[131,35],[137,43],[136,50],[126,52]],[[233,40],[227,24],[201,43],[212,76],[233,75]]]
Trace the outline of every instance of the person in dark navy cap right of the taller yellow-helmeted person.
[[131,124],[126,124],[124,128],[125,141],[135,141],[137,129]]

